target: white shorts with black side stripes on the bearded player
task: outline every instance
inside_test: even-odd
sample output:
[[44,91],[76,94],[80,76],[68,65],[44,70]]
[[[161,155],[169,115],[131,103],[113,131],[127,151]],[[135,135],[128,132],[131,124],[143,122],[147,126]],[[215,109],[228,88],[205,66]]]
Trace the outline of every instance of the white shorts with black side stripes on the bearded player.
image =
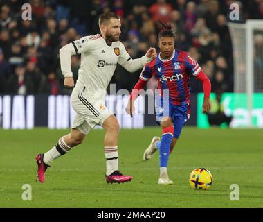
[[71,94],[71,105],[76,115],[72,128],[77,128],[85,135],[96,125],[102,126],[111,116],[104,99],[96,99],[87,92]]

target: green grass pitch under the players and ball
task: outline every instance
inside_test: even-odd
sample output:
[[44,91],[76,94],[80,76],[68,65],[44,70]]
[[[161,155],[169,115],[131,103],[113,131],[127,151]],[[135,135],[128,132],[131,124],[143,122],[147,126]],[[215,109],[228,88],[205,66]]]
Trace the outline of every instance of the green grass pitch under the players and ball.
[[[134,179],[105,182],[104,130],[92,130],[83,144],[53,162],[46,182],[36,182],[35,155],[48,151],[69,130],[1,130],[0,207],[263,207],[263,130],[185,127],[170,155],[174,185],[160,186],[158,154],[143,162],[143,152],[161,129],[120,130],[120,171]],[[214,182],[207,191],[190,187],[190,171],[206,167]],[[32,200],[21,198],[32,186]],[[230,200],[230,185],[239,200]]]

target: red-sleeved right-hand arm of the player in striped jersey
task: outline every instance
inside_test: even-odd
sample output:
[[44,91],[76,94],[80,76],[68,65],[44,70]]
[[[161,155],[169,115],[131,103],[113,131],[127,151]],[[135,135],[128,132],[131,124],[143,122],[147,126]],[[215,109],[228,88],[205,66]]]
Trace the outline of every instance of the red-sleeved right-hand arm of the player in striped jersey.
[[211,109],[210,105],[210,92],[211,92],[211,83],[209,78],[204,74],[203,70],[197,74],[197,79],[200,80],[203,83],[203,93],[204,93],[204,98],[203,98],[203,113],[207,113]]

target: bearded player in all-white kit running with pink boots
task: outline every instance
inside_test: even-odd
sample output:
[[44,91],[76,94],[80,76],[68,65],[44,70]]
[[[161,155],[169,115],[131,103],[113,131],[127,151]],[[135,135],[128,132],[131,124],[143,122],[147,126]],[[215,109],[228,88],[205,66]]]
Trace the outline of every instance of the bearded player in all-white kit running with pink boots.
[[96,125],[106,130],[104,139],[106,181],[122,183],[132,179],[132,176],[125,176],[118,171],[119,124],[104,105],[105,94],[117,63],[127,71],[134,72],[156,58],[156,50],[150,48],[145,56],[133,60],[119,41],[120,17],[114,12],[100,15],[99,26],[100,34],[82,37],[60,49],[60,65],[65,77],[65,87],[74,87],[71,55],[81,54],[78,80],[71,94],[71,104],[76,116],[71,133],[60,137],[57,144],[48,152],[37,155],[37,176],[40,182],[44,182],[45,171],[53,160],[81,144]]

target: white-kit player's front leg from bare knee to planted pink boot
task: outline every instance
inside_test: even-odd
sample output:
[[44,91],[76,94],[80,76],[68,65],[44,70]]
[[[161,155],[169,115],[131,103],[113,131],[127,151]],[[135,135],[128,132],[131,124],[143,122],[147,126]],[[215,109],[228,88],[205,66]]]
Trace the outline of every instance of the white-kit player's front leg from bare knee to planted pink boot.
[[105,119],[103,123],[105,128],[105,157],[106,157],[106,181],[107,182],[128,182],[131,176],[125,176],[118,171],[118,135],[120,126],[114,115]]

